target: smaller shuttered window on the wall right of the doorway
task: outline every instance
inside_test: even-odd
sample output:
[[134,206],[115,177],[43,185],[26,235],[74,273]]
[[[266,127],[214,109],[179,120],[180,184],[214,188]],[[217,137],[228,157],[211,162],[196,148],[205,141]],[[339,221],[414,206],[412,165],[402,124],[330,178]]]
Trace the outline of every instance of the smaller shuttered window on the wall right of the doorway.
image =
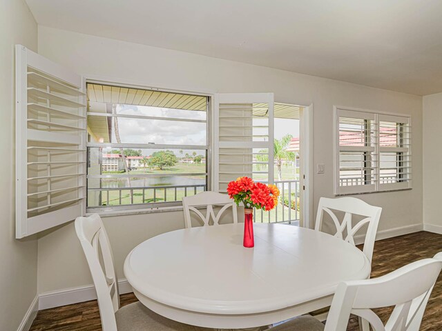
[[411,188],[410,117],[335,108],[335,194]]

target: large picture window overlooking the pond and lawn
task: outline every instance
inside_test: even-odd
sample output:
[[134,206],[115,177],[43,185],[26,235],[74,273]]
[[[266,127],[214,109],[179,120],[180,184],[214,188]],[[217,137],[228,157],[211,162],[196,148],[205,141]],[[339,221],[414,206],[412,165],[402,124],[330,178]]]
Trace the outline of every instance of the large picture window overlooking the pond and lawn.
[[208,190],[209,98],[88,83],[88,212],[181,205]]

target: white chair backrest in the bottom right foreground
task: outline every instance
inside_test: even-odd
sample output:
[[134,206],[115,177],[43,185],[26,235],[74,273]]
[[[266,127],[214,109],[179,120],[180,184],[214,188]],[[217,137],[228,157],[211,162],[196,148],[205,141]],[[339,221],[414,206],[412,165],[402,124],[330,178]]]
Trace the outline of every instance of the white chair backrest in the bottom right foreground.
[[[419,331],[423,312],[442,268],[442,252],[433,259],[405,265],[383,277],[340,283],[334,294],[325,331],[345,331],[350,314],[367,320],[374,331]],[[387,323],[372,308],[394,310]]]

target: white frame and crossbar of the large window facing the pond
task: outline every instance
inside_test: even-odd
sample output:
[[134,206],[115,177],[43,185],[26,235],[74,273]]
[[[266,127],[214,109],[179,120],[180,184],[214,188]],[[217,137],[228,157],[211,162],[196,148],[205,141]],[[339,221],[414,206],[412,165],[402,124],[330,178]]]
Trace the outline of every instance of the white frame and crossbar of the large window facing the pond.
[[[90,158],[89,148],[99,148],[99,147],[112,147],[112,148],[132,148],[132,149],[139,149],[139,148],[148,148],[148,149],[155,149],[155,150],[162,150],[162,149],[195,149],[195,150],[201,150],[206,151],[206,172],[201,173],[201,175],[204,175],[206,177],[206,190],[209,191],[212,188],[213,185],[213,165],[212,165],[212,143],[213,143],[213,132],[212,132],[212,112],[213,112],[213,94],[210,93],[204,93],[204,92],[192,92],[192,91],[184,91],[184,90],[172,90],[168,88],[152,88],[150,86],[139,86],[139,85],[132,85],[127,83],[119,83],[117,81],[102,81],[102,80],[95,80],[95,79],[86,79],[84,86],[87,90],[88,84],[98,84],[98,85],[106,85],[106,86],[117,86],[119,88],[134,88],[134,89],[140,89],[140,90],[151,90],[155,92],[170,92],[170,93],[177,93],[177,94],[191,94],[195,96],[200,97],[206,97],[206,145],[202,146],[191,146],[191,145],[169,145],[169,144],[143,144],[143,143],[90,143],[87,142],[87,134],[86,132],[86,150],[88,154],[88,159]],[[89,112],[86,112],[86,117],[89,114]],[[124,116],[123,116],[124,117]],[[140,118],[140,119],[146,119],[145,116],[137,117],[136,115],[131,115],[131,118]],[[155,119],[157,119],[155,117]],[[162,117],[158,117],[158,119],[162,119]],[[177,121],[180,121],[180,119],[176,119]],[[184,121],[189,121],[188,119],[185,119]],[[193,122],[193,121],[192,121]],[[87,119],[86,119],[86,126],[87,126]],[[86,183],[88,178],[98,178],[98,177],[104,177],[106,175],[91,175],[92,177],[89,177],[89,174],[86,175]],[[136,176],[136,174],[134,174]],[[88,187],[86,186],[86,200],[88,197]],[[169,212],[174,210],[182,210],[182,201],[166,201],[166,202],[156,202],[156,203],[134,203],[134,204],[127,204],[127,205],[110,205],[110,206],[87,206],[86,205],[86,214],[93,214],[93,213],[99,213],[102,216],[115,216],[115,215],[124,215],[124,214],[144,214],[144,213],[151,213],[151,212]]]

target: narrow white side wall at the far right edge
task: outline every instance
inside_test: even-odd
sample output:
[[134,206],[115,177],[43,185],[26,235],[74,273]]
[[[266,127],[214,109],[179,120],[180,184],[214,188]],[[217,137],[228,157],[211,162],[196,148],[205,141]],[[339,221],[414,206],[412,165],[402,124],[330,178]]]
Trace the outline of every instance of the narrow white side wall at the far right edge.
[[423,223],[442,233],[442,93],[423,97]]

